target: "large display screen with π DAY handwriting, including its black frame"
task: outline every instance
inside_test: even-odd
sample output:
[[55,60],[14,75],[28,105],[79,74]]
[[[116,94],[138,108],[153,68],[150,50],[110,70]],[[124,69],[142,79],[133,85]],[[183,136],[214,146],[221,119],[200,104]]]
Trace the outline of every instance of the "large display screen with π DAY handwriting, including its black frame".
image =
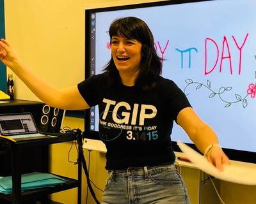
[[[255,0],[174,0],[86,10],[86,77],[101,73],[109,62],[111,22],[143,19],[164,59],[163,77],[184,91],[231,159],[256,163],[255,11]],[[97,135],[97,106],[85,120],[86,136]],[[170,138],[191,143],[177,124]]]

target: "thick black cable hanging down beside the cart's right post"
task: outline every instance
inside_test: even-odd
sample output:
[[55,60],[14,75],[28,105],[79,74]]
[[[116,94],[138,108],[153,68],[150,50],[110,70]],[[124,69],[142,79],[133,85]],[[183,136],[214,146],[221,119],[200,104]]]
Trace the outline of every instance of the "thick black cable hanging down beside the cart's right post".
[[[92,188],[92,185],[91,185],[91,182],[90,182],[90,179],[89,179],[89,173],[88,173],[88,170],[86,168],[86,161],[84,159],[84,154],[83,154],[83,145],[81,143],[81,139],[82,139],[82,131],[80,129],[76,129],[76,132],[75,132],[75,136],[76,136],[76,140],[77,140],[77,143],[78,143],[78,149],[79,149],[79,156],[80,156],[80,159],[81,159],[81,162],[83,164],[83,169],[84,169],[84,173],[86,175],[86,180],[87,180],[87,185],[90,189],[90,193],[92,194],[92,197],[93,199],[95,200],[95,202],[97,204],[100,204],[99,200],[97,200],[97,197],[95,196],[95,193],[93,191],[93,188]],[[80,136],[80,138],[79,138]]]

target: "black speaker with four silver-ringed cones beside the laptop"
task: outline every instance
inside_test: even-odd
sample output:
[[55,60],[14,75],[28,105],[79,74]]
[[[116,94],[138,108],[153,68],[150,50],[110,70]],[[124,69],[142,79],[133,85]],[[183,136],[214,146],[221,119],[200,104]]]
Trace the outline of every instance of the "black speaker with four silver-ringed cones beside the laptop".
[[45,104],[42,108],[40,126],[38,130],[42,133],[60,133],[65,110],[53,108]]

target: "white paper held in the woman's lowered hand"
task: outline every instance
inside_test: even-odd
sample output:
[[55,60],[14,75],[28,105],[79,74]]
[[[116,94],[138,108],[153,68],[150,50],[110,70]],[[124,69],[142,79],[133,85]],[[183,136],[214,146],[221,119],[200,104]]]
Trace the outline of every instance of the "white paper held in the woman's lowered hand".
[[191,163],[205,173],[228,182],[244,185],[256,185],[256,168],[251,166],[240,166],[237,164],[225,164],[223,166],[224,170],[220,171],[209,163],[204,156],[191,149],[191,147],[185,143],[177,142],[177,145],[179,145],[180,150],[182,150],[185,156],[188,157]]

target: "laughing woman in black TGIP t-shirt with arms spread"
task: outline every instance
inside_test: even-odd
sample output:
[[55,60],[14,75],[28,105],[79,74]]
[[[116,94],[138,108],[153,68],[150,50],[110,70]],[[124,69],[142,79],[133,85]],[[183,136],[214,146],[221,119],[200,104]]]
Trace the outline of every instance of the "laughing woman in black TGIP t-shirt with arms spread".
[[223,170],[229,160],[184,93],[160,76],[161,59],[145,22],[135,17],[117,19],[109,35],[112,56],[104,73],[67,89],[43,82],[3,39],[0,58],[50,106],[83,110],[99,105],[109,172],[102,203],[189,203],[186,186],[173,165],[173,120],[216,168]]

